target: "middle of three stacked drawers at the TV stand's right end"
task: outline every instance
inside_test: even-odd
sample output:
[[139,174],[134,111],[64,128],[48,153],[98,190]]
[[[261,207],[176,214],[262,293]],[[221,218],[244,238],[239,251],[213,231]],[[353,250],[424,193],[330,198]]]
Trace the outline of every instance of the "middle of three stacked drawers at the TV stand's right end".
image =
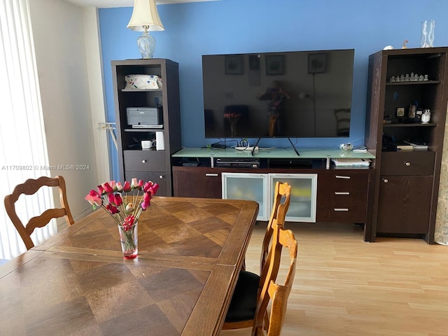
[[367,202],[367,190],[319,190],[318,207],[362,207]]

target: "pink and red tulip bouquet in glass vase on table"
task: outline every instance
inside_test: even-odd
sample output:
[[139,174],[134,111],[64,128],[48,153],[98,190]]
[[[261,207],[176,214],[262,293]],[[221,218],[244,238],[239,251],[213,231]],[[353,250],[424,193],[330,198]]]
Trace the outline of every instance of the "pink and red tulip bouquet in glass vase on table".
[[127,253],[137,256],[137,238],[134,229],[141,211],[151,206],[151,199],[157,192],[159,185],[152,181],[132,179],[131,183],[125,181],[110,181],[98,186],[98,190],[90,190],[85,200],[92,204],[93,209],[102,207],[117,222],[122,237],[122,247],[125,257]]

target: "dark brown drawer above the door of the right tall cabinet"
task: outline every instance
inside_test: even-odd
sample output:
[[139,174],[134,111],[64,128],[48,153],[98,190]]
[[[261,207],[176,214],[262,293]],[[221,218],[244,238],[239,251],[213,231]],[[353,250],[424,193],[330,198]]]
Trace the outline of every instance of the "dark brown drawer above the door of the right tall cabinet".
[[381,175],[433,175],[435,152],[399,151],[381,154]]

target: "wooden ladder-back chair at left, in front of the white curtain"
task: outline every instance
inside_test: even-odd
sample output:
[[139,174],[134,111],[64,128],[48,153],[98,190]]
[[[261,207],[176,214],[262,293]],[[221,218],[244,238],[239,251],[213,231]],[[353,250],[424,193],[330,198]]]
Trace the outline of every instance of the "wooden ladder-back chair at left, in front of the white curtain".
[[[62,208],[47,209],[40,216],[31,218],[28,223],[24,225],[15,211],[15,202],[17,202],[20,195],[34,195],[43,186],[56,187],[59,189],[59,200]],[[36,228],[43,228],[47,225],[52,218],[65,216],[67,225],[75,223],[73,221],[73,216],[71,216],[69,203],[67,202],[66,186],[62,176],[56,176],[54,179],[48,176],[41,176],[38,179],[28,179],[24,183],[16,186],[13,193],[6,195],[4,202],[6,213],[18,230],[19,235],[22,237],[28,250],[34,247],[34,243],[31,240],[31,234]]]

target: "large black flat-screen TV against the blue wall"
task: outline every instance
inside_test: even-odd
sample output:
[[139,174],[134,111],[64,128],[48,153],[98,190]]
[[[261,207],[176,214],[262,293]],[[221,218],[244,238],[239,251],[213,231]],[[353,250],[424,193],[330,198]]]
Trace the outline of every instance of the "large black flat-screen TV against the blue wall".
[[205,137],[349,137],[353,59],[353,49],[203,55]]

